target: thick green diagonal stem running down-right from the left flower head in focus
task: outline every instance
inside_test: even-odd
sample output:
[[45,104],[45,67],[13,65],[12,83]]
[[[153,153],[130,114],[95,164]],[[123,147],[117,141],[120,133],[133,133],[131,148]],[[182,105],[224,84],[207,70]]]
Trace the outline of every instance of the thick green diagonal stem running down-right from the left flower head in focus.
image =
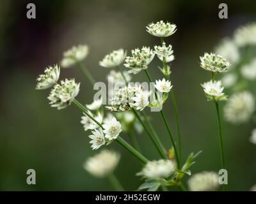
[[[77,108],[79,108],[79,110],[81,110],[81,112],[83,112],[85,115],[87,115],[90,119],[92,119],[98,126],[100,126],[100,128],[103,129],[102,124],[100,124],[97,120],[95,120],[93,118],[92,115],[90,115],[90,113],[88,113],[87,109],[81,104],[79,103],[79,101],[77,101],[76,99],[74,99],[72,101],[74,103],[74,105],[77,106]],[[116,142],[120,143],[120,145],[122,145],[125,149],[127,149],[129,152],[131,152],[134,156],[136,156],[142,163],[147,163],[148,159],[146,159],[142,154],[140,154],[140,152],[138,152],[136,149],[134,149],[131,145],[129,145],[129,143],[125,142],[125,140],[123,138],[121,138],[120,136],[118,138],[116,138]]]

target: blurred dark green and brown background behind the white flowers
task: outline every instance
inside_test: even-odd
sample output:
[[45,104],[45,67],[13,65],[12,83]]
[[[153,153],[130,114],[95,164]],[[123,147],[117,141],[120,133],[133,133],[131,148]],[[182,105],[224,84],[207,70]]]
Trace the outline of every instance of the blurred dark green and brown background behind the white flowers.
[[[26,18],[26,4],[36,4],[36,19]],[[82,168],[92,156],[89,132],[80,124],[81,113],[70,106],[57,111],[49,106],[49,91],[36,91],[36,77],[45,66],[59,62],[63,51],[78,44],[90,45],[84,61],[99,81],[106,81],[109,69],[99,61],[116,48],[159,44],[145,26],[168,20],[178,31],[167,43],[173,45],[172,78],[180,112],[183,156],[203,150],[193,173],[220,169],[218,129],[213,103],[207,103],[200,83],[209,73],[199,67],[199,56],[234,29],[256,17],[256,1],[225,1],[228,19],[218,18],[222,1],[8,1],[0,0],[0,190],[2,191],[93,191],[112,190],[108,180],[96,179]],[[148,69],[154,79],[162,78],[155,60]],[[93,89],[76,68],[61,69],[61,78],[81,82],[77,99],[92,103]],[[145,81],[143,73],[133,81]],[[168,120],[175,133],[173,108],[166,103]],[[170,145],[157,113],[154,126],[166,147]],[[256,184],[256,147],[248,142],[253,124],[223,124],[228,169],[228,189],[247,191]],[[125,139],[129,140],[127,136]],[[150,159],[158,154],[147,135],[139,135],[143,153]],[[115,171],[127,190],[141,184],[135,173],[140,163],[116,143],[109,146],[122,154]],[[36,185],[26,184],[26,171],[36,170]]]

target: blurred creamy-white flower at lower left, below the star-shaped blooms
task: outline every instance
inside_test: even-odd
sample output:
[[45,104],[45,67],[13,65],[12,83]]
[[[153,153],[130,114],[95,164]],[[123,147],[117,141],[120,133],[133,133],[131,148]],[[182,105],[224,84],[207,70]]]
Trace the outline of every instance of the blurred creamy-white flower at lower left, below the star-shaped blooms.
[[113,173],[119,160],[120,154],[117,152],[102,150],[99,154],[89,157],[83,167],[95,177],[106,177]]

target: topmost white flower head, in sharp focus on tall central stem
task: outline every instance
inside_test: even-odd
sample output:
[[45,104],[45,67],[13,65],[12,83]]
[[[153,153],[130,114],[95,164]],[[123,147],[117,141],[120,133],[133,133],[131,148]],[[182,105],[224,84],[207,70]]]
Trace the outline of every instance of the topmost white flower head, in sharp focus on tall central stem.
[[170,24],[169,22],[157,22],[156,24],[151,23],[146,26],[147,32],[156,37],[168,37],[177,31],[177,26],[175,24]]

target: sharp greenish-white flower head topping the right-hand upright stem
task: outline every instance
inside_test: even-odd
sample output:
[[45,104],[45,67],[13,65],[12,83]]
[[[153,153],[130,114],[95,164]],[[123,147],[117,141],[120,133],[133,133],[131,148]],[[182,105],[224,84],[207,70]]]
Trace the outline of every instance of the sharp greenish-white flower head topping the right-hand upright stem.
[[230,63],[221,55],[214,53],[205,53],[204,56],[200,57],[200,66],[207,70],[216,73],[227,71]]

